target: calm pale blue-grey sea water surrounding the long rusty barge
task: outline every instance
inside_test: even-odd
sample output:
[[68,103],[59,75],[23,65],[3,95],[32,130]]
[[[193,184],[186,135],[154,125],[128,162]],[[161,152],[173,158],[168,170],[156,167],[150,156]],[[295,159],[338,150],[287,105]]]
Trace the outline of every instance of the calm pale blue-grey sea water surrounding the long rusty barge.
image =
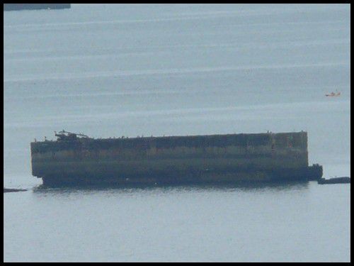
[[30,142],[63,128],[303,130],[350,176],[350,5],[4,12],[5,262],[350,261],[350,184],[42,189]]

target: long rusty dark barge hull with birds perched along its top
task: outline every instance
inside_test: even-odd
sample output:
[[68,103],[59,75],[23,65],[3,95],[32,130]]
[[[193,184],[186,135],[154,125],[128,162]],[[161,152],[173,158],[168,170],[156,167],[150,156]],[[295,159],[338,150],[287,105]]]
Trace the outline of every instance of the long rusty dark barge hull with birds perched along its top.
[[307,133],[57,140],[30,144],[32,174],[70,184],[206,184],[317,180]]

